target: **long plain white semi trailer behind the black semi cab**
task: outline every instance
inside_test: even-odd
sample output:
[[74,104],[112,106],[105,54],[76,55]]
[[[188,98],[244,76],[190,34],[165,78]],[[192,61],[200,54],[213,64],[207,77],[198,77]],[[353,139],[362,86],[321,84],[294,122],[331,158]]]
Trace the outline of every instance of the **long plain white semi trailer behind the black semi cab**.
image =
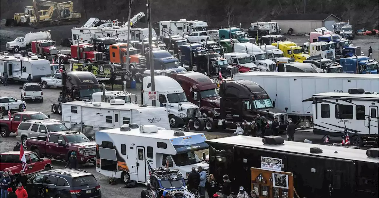
[[379,76],[376,74],[247,72],[234,74],[233,79],[259,84],[268,95],[275,95],[275,108],[285,112],[287,107],[288,117],[293,119],[312,116],[312,101],[302,100],[315,94],[347,93],[351,88],[379,92]]

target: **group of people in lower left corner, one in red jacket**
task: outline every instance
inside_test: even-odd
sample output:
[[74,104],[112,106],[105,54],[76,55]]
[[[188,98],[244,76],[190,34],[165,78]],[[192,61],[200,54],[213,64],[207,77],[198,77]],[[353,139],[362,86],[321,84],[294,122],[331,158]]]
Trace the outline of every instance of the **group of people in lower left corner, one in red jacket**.
[[28,198],[28,193],[24,189],[27,179],[23,170],[16,177],[12,171],[0,171],[0,198]]

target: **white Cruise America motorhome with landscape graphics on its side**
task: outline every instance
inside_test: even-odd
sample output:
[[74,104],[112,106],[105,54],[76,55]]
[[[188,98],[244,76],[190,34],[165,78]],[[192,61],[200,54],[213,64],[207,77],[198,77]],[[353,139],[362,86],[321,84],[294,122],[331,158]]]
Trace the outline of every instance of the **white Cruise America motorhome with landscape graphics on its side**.
[[[203,133],[165,130],[154,125],[129,124],[96,131],[96,172],[144,183],[150,168],[177,169],[187,179],[191,167],[209,165],[194,153],[208,149]],[[205,154],[203,154],[205,158]],[[168,163],[166,163],[168,161]]]

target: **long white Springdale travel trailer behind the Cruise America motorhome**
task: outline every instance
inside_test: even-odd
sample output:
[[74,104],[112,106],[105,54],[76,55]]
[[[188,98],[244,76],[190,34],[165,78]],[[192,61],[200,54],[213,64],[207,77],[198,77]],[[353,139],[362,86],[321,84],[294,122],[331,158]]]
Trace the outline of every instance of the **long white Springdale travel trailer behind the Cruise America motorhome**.
[[110,103],[73,101],[62,103],[62,122],[72,131],[93,135],[95,131],[119,128],[123,124],[154,124],[170,128],[165,108],[125,104],[124,100]]

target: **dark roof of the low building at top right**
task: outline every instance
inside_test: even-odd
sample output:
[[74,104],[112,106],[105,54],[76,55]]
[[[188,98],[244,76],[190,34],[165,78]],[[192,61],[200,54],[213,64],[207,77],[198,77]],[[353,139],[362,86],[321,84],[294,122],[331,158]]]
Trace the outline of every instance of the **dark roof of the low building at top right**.
[[313,21],[324,21],[330,16],[334,16],[338,20],[340,18],[336,17],[334,14],[279,14],[271,20],[313,20]]

